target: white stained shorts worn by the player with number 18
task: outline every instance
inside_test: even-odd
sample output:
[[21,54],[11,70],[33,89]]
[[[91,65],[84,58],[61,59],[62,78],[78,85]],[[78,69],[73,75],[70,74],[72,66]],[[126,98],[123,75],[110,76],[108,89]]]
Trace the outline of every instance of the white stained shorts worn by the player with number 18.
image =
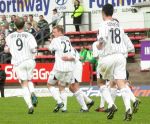
[[122,54],[102,58],[98,68],[103,79],[126,79],[126,58]]

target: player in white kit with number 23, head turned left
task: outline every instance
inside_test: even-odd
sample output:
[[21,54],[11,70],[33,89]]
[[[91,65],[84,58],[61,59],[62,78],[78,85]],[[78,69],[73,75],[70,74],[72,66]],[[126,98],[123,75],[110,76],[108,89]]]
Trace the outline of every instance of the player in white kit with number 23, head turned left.
[[[59,109],[64,106],[64,101],[66,101],[66,93],[62,91],[58,92],[54,85],[59,81],[59,84],[65,87],[66,83],[70,84],[73,82],[75,54],[72,52],[74,49],[71,45],[69,37],[64,36],[62,26],[55,26],[53,28],[53,35],[55,38],[51,41],[49,50],[55,52],[55,63],[53,70],[50,72],[47,86],[52,94],[52,97],[57,101],[57,105],[53,112],[58,112]],[[74,94],[82,106],[83,112],[88,111],[80,90],[75,91]]]

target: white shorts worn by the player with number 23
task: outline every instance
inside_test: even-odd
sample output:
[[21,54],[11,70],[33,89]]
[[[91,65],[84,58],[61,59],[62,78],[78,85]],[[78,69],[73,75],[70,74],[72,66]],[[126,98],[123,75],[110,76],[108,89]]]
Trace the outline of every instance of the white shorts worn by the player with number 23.
[[62,86],[66,86],[66,84],[70,84],[73,80],[73,72],[61,72],[57,70],[52,70],[50,72],[48,83],[51,85],[55,85],[57,81],[60,81]]

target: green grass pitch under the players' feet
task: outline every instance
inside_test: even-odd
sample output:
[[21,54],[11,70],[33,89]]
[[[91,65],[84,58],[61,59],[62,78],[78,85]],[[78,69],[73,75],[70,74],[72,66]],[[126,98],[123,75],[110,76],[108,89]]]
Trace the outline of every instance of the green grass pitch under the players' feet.
[[80,113],[80,106],[75,97],[68,98],[68,112],[53,113],[55,101],[52,97],[38,98],[39,104],[33,115],[28,115],[28,109],[23,98],[0,98],[0,124],[150,124],[150,98],[141,97],[140,110],[133,115],[131,122],[123,121],[124,104],[121,98],[116,99],[118,112],[112,120],[107,120],[106,113],[95,112],[99,105],[99,97],[92,97],[95,105],[89,113]]

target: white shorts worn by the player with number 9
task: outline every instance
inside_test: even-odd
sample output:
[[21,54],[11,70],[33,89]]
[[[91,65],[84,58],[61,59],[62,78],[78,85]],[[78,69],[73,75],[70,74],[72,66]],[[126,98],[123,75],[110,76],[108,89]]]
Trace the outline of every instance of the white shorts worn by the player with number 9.
[[32,80],[35,65],[35,61],[30,59],[14,66],[14,71],[16,72],[17,78],[22,81]]

